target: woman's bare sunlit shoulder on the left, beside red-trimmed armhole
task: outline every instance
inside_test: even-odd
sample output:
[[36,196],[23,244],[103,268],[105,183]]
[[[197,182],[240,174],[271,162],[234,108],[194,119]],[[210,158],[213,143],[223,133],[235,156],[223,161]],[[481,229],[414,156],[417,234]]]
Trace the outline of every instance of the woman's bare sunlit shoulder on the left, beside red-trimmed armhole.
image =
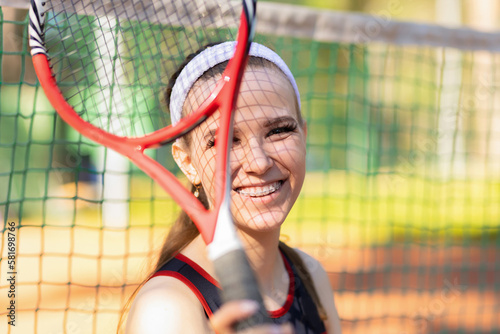
[[126,334],[210,333],[194,293],[173,277],[150,279],[139,290],[128,314]]

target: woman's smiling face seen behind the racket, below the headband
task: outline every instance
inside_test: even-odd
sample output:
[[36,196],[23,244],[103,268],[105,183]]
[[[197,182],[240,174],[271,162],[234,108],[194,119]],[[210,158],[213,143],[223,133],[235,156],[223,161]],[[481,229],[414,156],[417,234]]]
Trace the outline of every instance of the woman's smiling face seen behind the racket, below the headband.
[[[196,109],[219,76],[199,80],[185,110]],[[251,65],[244,74],[234,114],[231,211],[243,230],[278,228],[295,203],[305,177],[306,128],[287,77],[272,64]],[[215,132],[219,114],[174,145],[174,158],[193,184],[215,197]]]

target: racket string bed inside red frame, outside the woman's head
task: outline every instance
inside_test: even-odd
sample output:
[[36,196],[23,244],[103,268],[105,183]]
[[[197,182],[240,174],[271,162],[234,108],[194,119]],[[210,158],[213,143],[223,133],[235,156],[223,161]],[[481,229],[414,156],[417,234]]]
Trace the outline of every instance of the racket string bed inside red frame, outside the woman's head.
[[235,39],[236,8],[217,1],[56,1],[45,44],[58,85],[80,117],[117,135],[140,136],[170,123],[160,96],[185,57]]

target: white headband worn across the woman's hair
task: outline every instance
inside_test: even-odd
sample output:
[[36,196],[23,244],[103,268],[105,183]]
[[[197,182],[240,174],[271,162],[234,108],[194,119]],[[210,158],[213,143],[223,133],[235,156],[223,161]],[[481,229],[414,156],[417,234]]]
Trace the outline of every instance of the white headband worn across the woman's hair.
[[[194,83],[209,69],[223,63],[233,57],[236,42],[224,42],[214,45],[203,50],[200,54],[194,57],[181,71],[170,98],[170,118],[172,124],[177,124],[181,119],[182,107],[186,101],[189,90]],[[264,58],[278,66],[278,68],[288,77],[288,80],[295,90],[297,102],[300,108],[300,95],[297,83],[292,72],[276,52],[265,47],[264,45],[252,43],[249,55],[252,57]]]

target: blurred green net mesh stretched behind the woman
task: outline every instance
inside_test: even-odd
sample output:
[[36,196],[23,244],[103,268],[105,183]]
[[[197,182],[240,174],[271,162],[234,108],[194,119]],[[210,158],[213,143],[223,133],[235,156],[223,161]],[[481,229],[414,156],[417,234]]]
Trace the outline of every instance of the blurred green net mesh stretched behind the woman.
[[[2,307],[0,331],[114,332],[179,209],[56,117],[34,77],[26,13],[0,9],[1,305],[10,222],[17,272],[16,326]],[[325,266],[344,333],[498,332],[497,50],[473,46],[482,33],[449,47],[457,30],[431,26],[420,32],[446,43],[304,29],[257,38],[291,66],[308,124],[307,178],[283,240]],[[168,148],[156,159],[175,171]]]

